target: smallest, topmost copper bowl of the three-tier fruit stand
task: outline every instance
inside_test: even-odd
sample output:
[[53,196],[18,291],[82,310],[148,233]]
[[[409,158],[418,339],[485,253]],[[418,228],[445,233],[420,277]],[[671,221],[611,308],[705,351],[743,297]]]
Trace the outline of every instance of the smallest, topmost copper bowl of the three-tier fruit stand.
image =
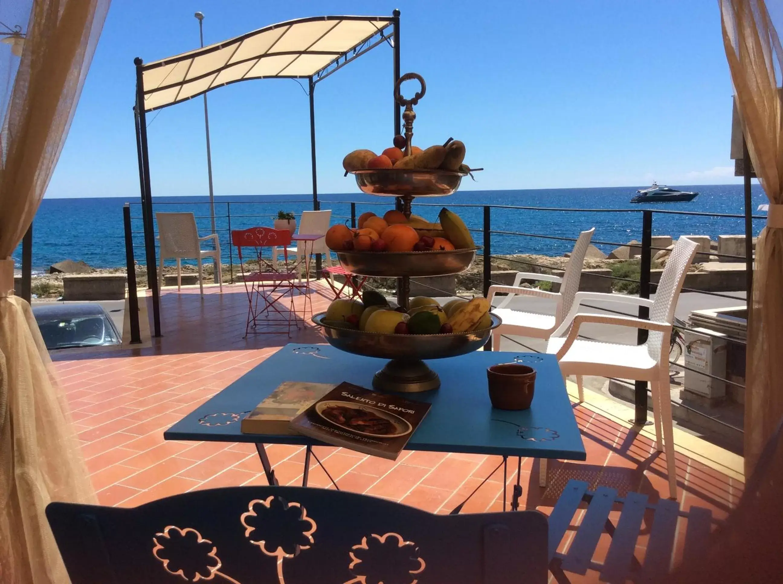
[[467,173],[458,170],[369,168],[352,170],[356,185],[368,195],[439,197],[451,195]]

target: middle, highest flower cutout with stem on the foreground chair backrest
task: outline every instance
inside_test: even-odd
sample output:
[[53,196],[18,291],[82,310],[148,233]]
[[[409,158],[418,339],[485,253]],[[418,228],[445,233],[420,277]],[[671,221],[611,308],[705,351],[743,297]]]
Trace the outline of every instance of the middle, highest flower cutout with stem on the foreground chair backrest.
[[240,520],[250,543],[277,558],[280,584],[284,584],[283,559],[298,556],[315,541],[312,534],[316,532],[316,522],[307,516],[305,507],[279,496],[252,500]]

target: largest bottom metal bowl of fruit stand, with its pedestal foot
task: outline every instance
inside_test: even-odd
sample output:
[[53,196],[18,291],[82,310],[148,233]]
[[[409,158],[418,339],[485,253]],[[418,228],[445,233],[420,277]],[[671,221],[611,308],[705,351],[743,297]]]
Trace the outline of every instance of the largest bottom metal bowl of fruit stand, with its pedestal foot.
[[490,314],[492,325],[479,331],[449,335],[394,335],[337,328],[323,324],[326,313],[312,317],[323,337],[336,349],[354,355],[391,359],[373,378],[373,388],[387,392],[424,392],[440,387],[440,379],[424,359],[443,359],[481,349],[500,317]]

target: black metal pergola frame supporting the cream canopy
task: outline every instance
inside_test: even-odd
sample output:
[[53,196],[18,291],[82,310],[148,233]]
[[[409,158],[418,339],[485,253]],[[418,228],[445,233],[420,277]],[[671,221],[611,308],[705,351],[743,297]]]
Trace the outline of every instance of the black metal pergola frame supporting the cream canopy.
[[[315,112],[315,96],[314,90],[316,84],[329,77],[335,71],[341,69],[348,63],[351,63],[354,59],[358,59],[364,53],[371,49],[381,45],[383,42],[391,41],[391,46],[394,49],[394,77],[393,82],[399,80],[400,67],[399,67],[399,10],[394,10],[391,17],[388,16],[316,16],[311,18],[304,18],[298,20],[290,20],[287,23],[273,24],[270,27],[265,27],[263,31],[274,30],[276,27],[283,25],[292,25],[295,23],[309,23],[323,20],[361,20],[367,22],[386,22],[384,26],[380,27],[376,33],[373,33],[368,38],[364,38],[356,45],[348,48],[348,50],[341,52],[309,52],[309,54],[316,55],[331,55],[334,54],[334,59],[330,60],[327,65],[321,67],[315,73],[311,75],[274,75],[268,78],[273,79],[307,79],[309,84],[309,100],[310,100],[310,157],[312,163],[312,208],[313,210],[319,210],[318,200],[318,178],[316,174],[316,112]],[[388,29],[391,28],[391,32]],[[167,87],[158,87],[152,90],[145,91],[143,74],[147,70],[153,70],[157,67],[168,66],[171,63],[177,63],[185,59],[193,59],[194,56],[206,55],[210,52],[215,52],[223,48],[224,44],[230,42],[242,41],[244,38],[249,38],[253,34],[257,34],[259,31],[253,31],[251,33],[244,34],[240,37],[229,39],[225,43],[219,43],[217,45],[211,45],[201,50],[185,53],[179,56],[172,57],[171,59],[164,59],[155,63],[144,65],[143,60],[140,57],[134,59],[136,67],[136,91],[135,91],[135,106],[133,108],[135,117],[135,129],[136,129],[136,150],[139,156],[139,185],[141,188],[141,200],[142,200],[142,219],[144,224],[144,248],[146,253],[146,265],[147,265],[147,285],[152,290],[153,298],[153,328],[154,335],[156,337],[161,336],[161,312],[160,312],[160,290],[157,287],[157,254],[155,251],[155,235],[153,224],[153,210],[152,210],[152,188],[150,186],[150,153],[147,142],[147,124],[146,124],[146,112],[153,111],[154,109],[161,109],[168,106],[173,106],[175,103],[187,101],[193,99],[198,95],[203,95],[207,91],[212,89],[223,87],[236,81],[251,81],[251,79],[264,78],[264,77],[251,77],[251,79],[245,79],[244,77],[229,81],[227,83],[215,85],[215,87],[209,87],[204,91],[197,92],[193,95],[188,95],[182,99],[175,99],[172,102],[166,103],[162,106],[156,106],[150,109],[144,108],[145,95],[152,93],[153,91],[160,91]],[[314,43],[313,43],[314,44]],[[279,52],[275,55],[292,54],[292,52]],[[251,59],[248,59],[251,60]],[[238,63],[231,63],[233,66]],[[206,74],[205,74],[206,75]],[[200,77],[204,77],[200,76]],[[187,81],[191,82],[197,80],[199,77],[193,77]],[[401,132],[401,111],[399,103],[394,102],[394,128],[395,134]],[[320,259],[320,257],[318,258]]]

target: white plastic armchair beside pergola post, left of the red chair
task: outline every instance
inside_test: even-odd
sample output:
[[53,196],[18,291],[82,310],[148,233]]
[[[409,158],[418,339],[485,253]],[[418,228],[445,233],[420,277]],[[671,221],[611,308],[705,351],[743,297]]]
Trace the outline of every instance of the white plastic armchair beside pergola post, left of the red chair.
[[[177,260],[177,290],[182,284],[182,266],[180,260],[196,260],[198,263],[198,285],[201,296],[204,296],[204,274],[201,260],[211,257],[215,263],[215,276],[223,292],[223,278],[220,270],[220,242],[218,235],[213,233],[198,236],[196,217],[193,213],[155,213],[157,219],[157,236],[161,240],[161,269],[157,273],[157,285],[163,285],[164,260]],[[215,249],[201,249],[201,242],[207,239],[215,240]]]

